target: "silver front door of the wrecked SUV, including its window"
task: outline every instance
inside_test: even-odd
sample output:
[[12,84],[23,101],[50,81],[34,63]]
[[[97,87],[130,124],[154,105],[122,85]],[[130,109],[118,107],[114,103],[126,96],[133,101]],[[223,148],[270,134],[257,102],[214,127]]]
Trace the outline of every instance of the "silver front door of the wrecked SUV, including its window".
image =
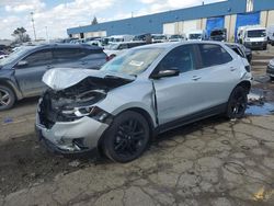
[[205,90],[197,82],[197,59],[193,45],[171,50],[153,72],[179,69],[178,77],[153,79],[159,124],[171,123],[201,111]]

